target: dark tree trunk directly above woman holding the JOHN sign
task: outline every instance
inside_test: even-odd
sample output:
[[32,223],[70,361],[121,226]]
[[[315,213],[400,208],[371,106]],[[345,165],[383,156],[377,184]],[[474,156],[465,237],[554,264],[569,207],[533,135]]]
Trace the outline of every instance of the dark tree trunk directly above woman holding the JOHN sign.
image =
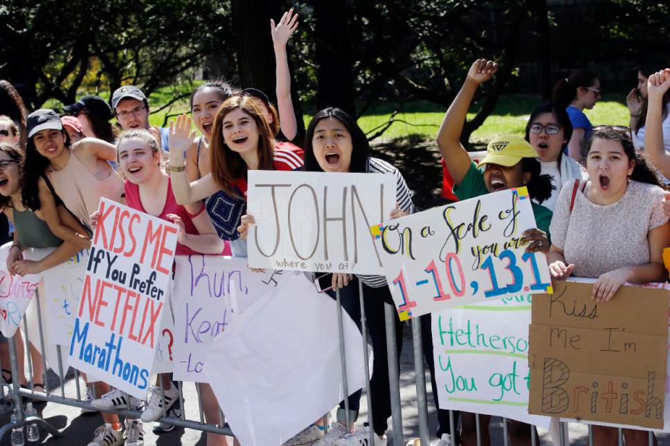
[[352,44],[347,35],[351,9],[345,0],[316,1],[317,109],[339,107],[356,116]]

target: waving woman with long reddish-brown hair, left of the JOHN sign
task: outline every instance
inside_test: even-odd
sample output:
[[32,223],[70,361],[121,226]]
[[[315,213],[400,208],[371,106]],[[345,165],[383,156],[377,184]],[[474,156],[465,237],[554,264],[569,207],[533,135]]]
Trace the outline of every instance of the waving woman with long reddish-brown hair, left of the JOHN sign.
[[174,140],[170,140],[168,171],[172,172],[174,197],[182,205],[211,200],[206,207],[217,234],[230,241],[234,256],[246,257],[246,241],[237,232],[239,219],[246,213],[246,172],[295,170],[302,167],[302,158],[273,147],[270,127],[251,97],[233,96],[221,104],[214,119],[210,173],[189,183],[183,154],[195,137],[190,125],[188,116],[179,116]]

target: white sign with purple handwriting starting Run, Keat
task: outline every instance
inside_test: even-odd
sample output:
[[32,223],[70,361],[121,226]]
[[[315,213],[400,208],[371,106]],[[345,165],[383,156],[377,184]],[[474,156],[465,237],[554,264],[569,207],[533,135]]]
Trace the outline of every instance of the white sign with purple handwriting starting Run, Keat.
[[[247,259],[213,255],[177,256],[174,275],[174,378],[206,382],[211,342],[229,330],[242,311],[295,272],[255,272]],[[217,357],[216,367],[228,366]]]

